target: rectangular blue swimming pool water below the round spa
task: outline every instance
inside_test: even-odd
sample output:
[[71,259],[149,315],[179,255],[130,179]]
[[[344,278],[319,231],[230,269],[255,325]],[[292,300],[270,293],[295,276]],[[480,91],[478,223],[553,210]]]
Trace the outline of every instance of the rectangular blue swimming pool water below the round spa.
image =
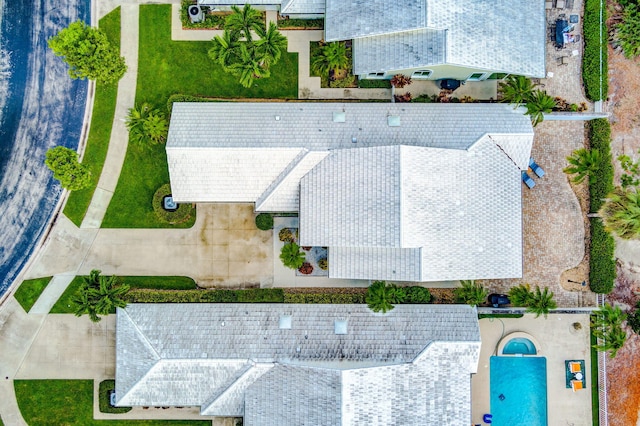
[[547,359],[492,356],[492,426],[547,426]]

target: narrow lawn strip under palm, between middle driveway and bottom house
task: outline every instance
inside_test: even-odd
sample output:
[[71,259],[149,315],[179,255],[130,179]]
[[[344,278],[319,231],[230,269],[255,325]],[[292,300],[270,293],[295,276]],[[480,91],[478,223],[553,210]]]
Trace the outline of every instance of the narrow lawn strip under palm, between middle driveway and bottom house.
[[[58,301],[51,308],[51,314],[72,314],[74,313],[73,303],[78,289],[82,285],[83,276],[75,277],[62,293]],[[196,282],[189,277],[134,277],[124,276],[119,279],[125,284],[134,288],[153,288],[161,290],[193,290],[196,289]]]

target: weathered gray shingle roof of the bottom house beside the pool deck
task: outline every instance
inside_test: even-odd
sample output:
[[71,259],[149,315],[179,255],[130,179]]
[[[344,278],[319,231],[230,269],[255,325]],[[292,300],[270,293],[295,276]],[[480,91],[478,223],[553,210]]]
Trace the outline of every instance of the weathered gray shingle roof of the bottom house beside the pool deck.
[[132,304],[117,311],[116,396],[247,425],[464,424],[479,350],[469,306]]

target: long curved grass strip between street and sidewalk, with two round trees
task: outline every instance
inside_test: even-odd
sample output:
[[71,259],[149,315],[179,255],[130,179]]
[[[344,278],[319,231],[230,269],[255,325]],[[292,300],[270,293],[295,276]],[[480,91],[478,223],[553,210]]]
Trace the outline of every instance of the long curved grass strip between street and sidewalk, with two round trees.
[[[100,20],[102,29],[109,41],[120,48],[120,7]],[[97,84],[95,98],[93,100],[93,113],[91,115],[91,128],[87,138],[82,164],[89,166],[92,176],[92,184],[81,191],[73,191],[67,199],[64,207],[64,215],[77,226],[82,224],[82,219],[89,208],[91,198],[98,185],[102,166],[107,157],[109,139],[111,138],[111,125],[116,109],[117,84]]]

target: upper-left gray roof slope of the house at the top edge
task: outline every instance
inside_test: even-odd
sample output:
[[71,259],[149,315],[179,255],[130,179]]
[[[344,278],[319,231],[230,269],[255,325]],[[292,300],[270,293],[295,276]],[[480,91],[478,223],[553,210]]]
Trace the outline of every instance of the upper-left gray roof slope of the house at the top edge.
[[426,0],[326,0],[325,40],[351,40],[424,28],[426,3]]

